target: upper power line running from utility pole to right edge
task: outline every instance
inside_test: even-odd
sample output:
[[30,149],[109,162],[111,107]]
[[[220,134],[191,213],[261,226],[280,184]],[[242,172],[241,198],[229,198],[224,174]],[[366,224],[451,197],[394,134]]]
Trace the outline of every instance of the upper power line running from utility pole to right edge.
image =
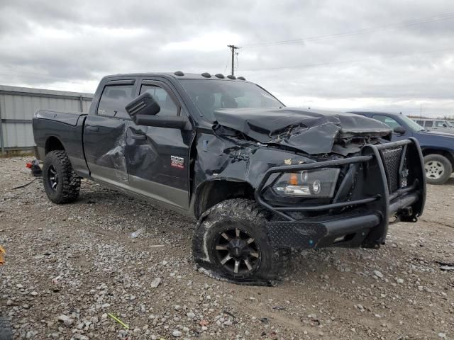
[[389,30],[392,28],[405,28],[405,27],[409,27],[409,26],[421,25],[423,23],[433,23],[436,21],[445,21],[445,20],[450,20],[452,18],[454,18],[454,12],[448,12],[448,13],[444,13],[444,14],[439,14],[438,16],[428,16],[428,17],[419,18],[419,19],[407,20],[407,21],[402,21],[400,23],[389,24],[387,26],[376,26],[374,28],[364,28],[362,30],[353,30],[353,31],[347,31],[347,32],[342,32],[342,33],[333,33],[333,34],[329,34],[329,35],[315,35],[315,36],[311,36],[311,37],[297,38],[297,39],[291,39],[291,40],[259,42],[257,44],[244,45],[243,48],[268,47],[268,46],[275,46],[275,45],[293,44],[296,42],[303,42],[303,41],[309,42],[309,41],[318,41],[318,40],[333,39],[333,38],[344,38],[344,37],[350,37],[352,35],[380,32],[382,30]]

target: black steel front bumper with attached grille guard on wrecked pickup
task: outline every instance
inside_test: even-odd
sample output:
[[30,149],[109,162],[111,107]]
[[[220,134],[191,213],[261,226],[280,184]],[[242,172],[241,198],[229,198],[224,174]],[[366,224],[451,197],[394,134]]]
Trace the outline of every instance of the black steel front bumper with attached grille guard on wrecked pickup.
[[[275,174],[344,167],[336,195],[324,205],[275,204],[264,196]],[[275,248],[309,249],[324,246],[365,246],[384,243],[389,218],[416,222],[426,200],[426,177],[418,142],[411,138],[383,145],[365,145],[360,156],[312,164],[278,166],[267,171],[255,200],[273,212],[267,222]],[[301,214],[305,217],[298,217]]]

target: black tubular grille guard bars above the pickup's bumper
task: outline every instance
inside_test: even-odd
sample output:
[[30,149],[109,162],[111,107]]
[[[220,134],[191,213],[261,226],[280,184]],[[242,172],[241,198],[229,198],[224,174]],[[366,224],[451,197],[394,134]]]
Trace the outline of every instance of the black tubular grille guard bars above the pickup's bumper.
[[[399,164],[397,164],[399,172],[397,174],[391,174],[389,171],[392,171],[396,166],[392,166],[393,164],[387,166],[386,153],[387,150],[395,152],[399,148],[402,148]],[[411,183],[402,188],[402,169],[404,162],[406,162],[406,168],[411,169],[412,176]],[[367,185],[363,188],[361,197],[338,201],[336,196],[331,200],[330,204],[325,205],[275,206],[267,202],[263,196],[265,189],[272,186],[276,180],[265,187],[272,174],[345,165],[351,166],[351,164],[362,166],[362,182],[367,183]],[[267,208],[267,210],[274,212],[289,222],[296,222],[296,219],[290,216],[288,212],[326,212],[326,210],[333,211],[338,208],[362,206],[367,210],[375,211],[377,215],[381,215],[381,228],[378,229],[382,229],[381,233],[384,232],[386,234],[389,219],[384,217],[398,215],[399,219],[404,222],[416,222],[416,217],[422,214],[426,201],[426,176],[423,169],[421,148],[419,147],[418,141],[414,138],[381,145],[365,145],[361,149],[360,156],[356,157],[270,168],[265,173],[265,176],[263,176],[262,181],[255,191],[255,200],[264,208]],[[396,180],[392,178],[393,176],[399,176],[397,187]],[[343,186],[348,185],[346,183],[348,181],[347,177],[345,176],[343,179],[338,191],[341,191]],[[391,183],[391,181],[394,182]]]

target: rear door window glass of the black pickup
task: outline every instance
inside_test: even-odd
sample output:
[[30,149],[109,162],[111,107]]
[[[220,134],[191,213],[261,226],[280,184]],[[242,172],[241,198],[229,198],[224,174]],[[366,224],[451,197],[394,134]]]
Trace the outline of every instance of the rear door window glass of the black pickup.
[[99,99],[98,115],[115,118],[129,118],[125,110],[127,103],[133,100],[133,84],[107,85]]

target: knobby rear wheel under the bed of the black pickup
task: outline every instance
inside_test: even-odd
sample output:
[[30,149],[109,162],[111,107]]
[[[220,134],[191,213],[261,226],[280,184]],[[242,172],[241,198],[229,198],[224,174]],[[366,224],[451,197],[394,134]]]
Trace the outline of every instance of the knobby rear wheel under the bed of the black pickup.
[[55,150],[46,155],[43,164],[43,184],[45,193],[53,203],[63,204],[77,200],[80,177],[72,169],[65,151]]

